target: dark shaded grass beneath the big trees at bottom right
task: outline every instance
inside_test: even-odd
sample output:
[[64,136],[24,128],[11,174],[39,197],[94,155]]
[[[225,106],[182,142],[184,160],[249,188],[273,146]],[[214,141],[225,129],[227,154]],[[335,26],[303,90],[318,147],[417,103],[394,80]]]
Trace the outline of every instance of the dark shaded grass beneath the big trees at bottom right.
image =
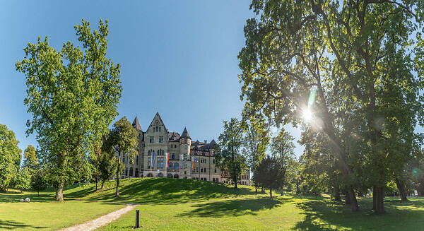
[[351,212],[350,206],[342,202],[329,201],[322,197],[308,197],[298,204],[306,215],[295,225],[297,230],[423,230],[424,199],[385,198],[386,214],[372,211],[372,199],[359,199],[360,211]]

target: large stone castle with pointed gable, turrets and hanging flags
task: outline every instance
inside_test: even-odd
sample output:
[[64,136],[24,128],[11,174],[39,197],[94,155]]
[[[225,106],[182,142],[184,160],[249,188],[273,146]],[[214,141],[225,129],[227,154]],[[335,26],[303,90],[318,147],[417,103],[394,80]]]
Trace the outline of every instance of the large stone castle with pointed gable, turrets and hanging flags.
[[[132,164],[127,155],[122,155],[122,162],[125,165],[122,178],[168,177],[231,182],[229,172],[220,171],[215,165],[217,143],[213,139],[211,143],[192,141],[186,128],[181,135],[170,132],[158,112],[146,131],[141,129],[137,117],[132,126],[139,133],[137,136],[139,155],[136,155]],[[168,167],[167,153],[169,153]],[[250,185],[249,178],[249,172],[246,172],[237,184]]]

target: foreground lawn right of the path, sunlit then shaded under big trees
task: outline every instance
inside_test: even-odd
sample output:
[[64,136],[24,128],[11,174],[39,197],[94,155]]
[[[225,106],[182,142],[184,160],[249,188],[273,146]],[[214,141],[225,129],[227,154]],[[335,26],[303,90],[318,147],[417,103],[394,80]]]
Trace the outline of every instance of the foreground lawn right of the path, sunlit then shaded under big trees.
[[[359,199],[361,211],[321,196],[278,196],[142,205],[143,230],[423,230],[424,199],[386,198],[387,214],[375,215],[372,199]],[[135,210],[100,230],[134,227]]]

